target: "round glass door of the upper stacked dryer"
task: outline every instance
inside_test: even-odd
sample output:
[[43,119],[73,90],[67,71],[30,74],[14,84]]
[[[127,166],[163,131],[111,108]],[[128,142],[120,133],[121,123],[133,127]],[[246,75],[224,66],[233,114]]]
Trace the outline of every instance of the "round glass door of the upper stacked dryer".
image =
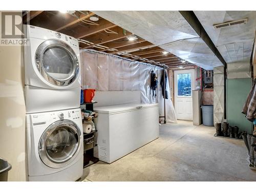
[[79,62],[73,49],[58,39],[49,39],[37,48],[36,67],[48,82],[68,86],[79,74]]

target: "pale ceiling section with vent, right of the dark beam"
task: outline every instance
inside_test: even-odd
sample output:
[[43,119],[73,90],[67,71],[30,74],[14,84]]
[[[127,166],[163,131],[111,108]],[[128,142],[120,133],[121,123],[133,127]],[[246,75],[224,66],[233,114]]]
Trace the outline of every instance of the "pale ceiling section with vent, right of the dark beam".
[[[194,11],[227,63],[250,61],[256,28],[256,11]],[[248,18],[246,25],[215,29],[215,24]]]

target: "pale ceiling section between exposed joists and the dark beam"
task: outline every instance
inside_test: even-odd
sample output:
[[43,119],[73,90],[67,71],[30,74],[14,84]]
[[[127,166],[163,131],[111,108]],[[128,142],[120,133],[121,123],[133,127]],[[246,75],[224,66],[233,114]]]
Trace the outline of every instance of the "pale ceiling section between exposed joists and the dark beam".
[[179,11],[93,12],[206,70],[223,66]]

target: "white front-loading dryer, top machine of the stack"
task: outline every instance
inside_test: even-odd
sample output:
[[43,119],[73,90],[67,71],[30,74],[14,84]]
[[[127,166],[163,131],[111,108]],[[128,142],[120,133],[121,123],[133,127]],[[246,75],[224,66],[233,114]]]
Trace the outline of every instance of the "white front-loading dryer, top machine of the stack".
[[79,108],[78,40],[48,29],[24,25],[27,113]]

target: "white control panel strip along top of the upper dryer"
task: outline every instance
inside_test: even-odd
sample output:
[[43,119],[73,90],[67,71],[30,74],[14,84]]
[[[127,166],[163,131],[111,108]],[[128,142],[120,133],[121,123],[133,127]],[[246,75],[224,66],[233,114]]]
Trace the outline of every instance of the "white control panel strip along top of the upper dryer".
[[25,26],[24,26],[24,30],[26,30],[25,33],[27,34],[27,38],[33,37],[33,38],[46,39],[46,40],[60,39],[72,47],[79,48],[78,40],[74,37],[71,37],[56,31],[52,31],[49,29],[44,29],[44,28],[35,27],[31,25],[25,25]]

